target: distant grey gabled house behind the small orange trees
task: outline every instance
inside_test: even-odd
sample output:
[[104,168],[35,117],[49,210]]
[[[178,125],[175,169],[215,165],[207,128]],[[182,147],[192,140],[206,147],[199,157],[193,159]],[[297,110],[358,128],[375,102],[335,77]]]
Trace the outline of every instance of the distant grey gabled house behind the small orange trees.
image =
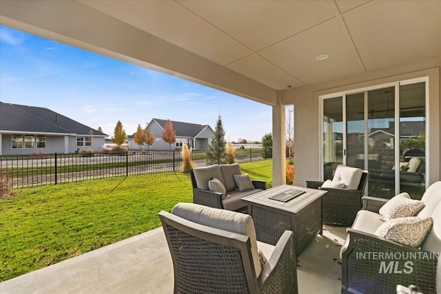
[[[163,132],[167,120],[152,118],[148,127],[153,132],[155,140],[149,149],[152,150],[169,150],[170,146],[163,140]],[[193,149],[207,149],[208,145],[212,143],[214,131],[209,125],[198,125],[195,123],[182,123],[180,121],[173,121],[172,125],[176,131],[176,143],[172,144],[172,149],[182,147],[183,144],[189,145]],[[139,145],[134,141],[134,134],[128,136],[130,149],[139,149]],[[144,143],[141,149],[147,149]]]

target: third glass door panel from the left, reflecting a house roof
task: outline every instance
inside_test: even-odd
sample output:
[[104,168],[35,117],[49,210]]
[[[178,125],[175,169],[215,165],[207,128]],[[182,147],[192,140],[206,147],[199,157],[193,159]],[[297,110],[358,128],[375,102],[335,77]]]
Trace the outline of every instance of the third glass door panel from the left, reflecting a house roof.
[[395,196],[395,87],[369,91],[367,101],[368,194]]

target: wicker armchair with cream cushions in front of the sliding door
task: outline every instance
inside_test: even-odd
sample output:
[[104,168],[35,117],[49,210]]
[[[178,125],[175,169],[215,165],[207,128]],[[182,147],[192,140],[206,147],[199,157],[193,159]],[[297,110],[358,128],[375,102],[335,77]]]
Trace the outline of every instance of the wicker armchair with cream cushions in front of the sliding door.
[[322,197],[323,223],[350,227],[362,207],[368,172],[338,165],[332,180],[307,180],[306,187],[328,191]]

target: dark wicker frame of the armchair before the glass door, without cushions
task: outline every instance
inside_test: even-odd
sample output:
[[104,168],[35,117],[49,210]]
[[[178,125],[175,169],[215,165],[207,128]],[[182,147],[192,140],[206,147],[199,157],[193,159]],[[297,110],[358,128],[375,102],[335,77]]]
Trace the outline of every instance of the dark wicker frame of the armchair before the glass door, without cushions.
[[321,187],[322,181],[306,181],[307,188],[326,190],[322,196],[323,224],[336,227],[351,227],[358,211],[362,208],[362,196],[367,182],[367,171],[362,176],[357,189],[338,189]]

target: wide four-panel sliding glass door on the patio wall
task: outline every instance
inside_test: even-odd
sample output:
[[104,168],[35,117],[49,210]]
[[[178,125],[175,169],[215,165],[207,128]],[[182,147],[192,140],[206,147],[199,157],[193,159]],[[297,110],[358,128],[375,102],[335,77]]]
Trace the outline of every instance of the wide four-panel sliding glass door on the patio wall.
[[366,195],[391,198],[425,190],[426,82],[322,99],[322,175],[339,164],[369,171]]

